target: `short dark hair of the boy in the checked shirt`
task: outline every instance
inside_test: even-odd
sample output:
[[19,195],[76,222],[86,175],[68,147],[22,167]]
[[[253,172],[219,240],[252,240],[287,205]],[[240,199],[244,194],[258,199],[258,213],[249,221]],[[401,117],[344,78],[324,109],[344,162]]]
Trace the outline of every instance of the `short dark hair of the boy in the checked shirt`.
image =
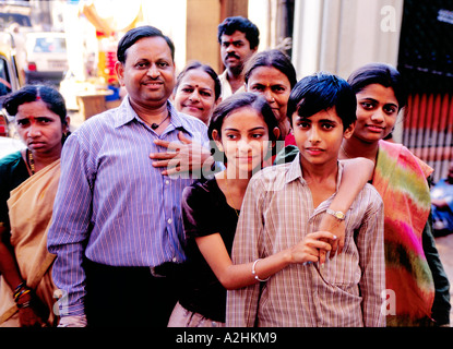
[[335,107],[346,130],[357,120],[357,98],[349,84],[339,76],[320,72],[300,80],[289,95],[287,117],[293,124],[295,112],[310,118],[317,112]]

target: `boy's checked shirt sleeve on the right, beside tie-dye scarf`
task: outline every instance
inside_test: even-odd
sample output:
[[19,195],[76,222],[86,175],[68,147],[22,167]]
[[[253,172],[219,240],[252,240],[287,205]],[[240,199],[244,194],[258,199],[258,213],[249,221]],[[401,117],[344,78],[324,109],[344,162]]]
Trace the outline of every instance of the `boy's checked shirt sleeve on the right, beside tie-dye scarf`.
[[356,242],[361,268],[359,287],[362,297],[363,325],[383,327],[385,326],[385,313],[382,309],[385,290],[384,214],[383,203],[378,194],[371,197],[369,206]]

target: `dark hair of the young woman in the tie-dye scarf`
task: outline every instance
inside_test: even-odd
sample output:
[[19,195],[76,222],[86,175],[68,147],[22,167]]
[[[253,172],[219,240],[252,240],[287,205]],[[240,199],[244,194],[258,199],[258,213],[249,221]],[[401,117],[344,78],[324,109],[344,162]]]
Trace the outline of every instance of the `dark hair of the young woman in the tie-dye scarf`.
[[353,87],[354,93],[358,94],[368,85],[379,84],[384,87],[392,87],[398,101],[398,110],[407,104],[407,91],[403,76],[392,65],[385,63],[369,63],[354,71],[347,82]]

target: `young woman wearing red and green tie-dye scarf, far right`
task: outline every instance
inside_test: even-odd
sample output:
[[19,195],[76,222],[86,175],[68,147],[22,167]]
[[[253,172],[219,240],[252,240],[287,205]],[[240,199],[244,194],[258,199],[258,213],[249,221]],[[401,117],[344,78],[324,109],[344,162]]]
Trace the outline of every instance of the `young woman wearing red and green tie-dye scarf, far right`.
[[400,73],[371,63],[348,79],[357,96],[354,135],[341,158],[374,161],[372,184],[384,202],[385,284],[382,310],[388,326],[448,325],[450,284],[430,227],[427,178],[432,169],[405,146],[383,141],[393,130],[407,95]]

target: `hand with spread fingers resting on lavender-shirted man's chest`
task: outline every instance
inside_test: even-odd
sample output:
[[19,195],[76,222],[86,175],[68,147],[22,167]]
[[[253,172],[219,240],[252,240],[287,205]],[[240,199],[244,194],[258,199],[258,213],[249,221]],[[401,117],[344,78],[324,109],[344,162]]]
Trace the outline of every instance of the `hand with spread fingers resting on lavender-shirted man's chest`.
[[154,167],[165,167],[164,176],[171,176],[181,172],[195,172],[196,170],[210,170],[214,164],[210,149],[204,148],[200,143],[187,139],[182,132],[178,133],[181,142],[168,142],[155,140],[156,145],[168,148],[165,153],[151,153],[150,157]]

